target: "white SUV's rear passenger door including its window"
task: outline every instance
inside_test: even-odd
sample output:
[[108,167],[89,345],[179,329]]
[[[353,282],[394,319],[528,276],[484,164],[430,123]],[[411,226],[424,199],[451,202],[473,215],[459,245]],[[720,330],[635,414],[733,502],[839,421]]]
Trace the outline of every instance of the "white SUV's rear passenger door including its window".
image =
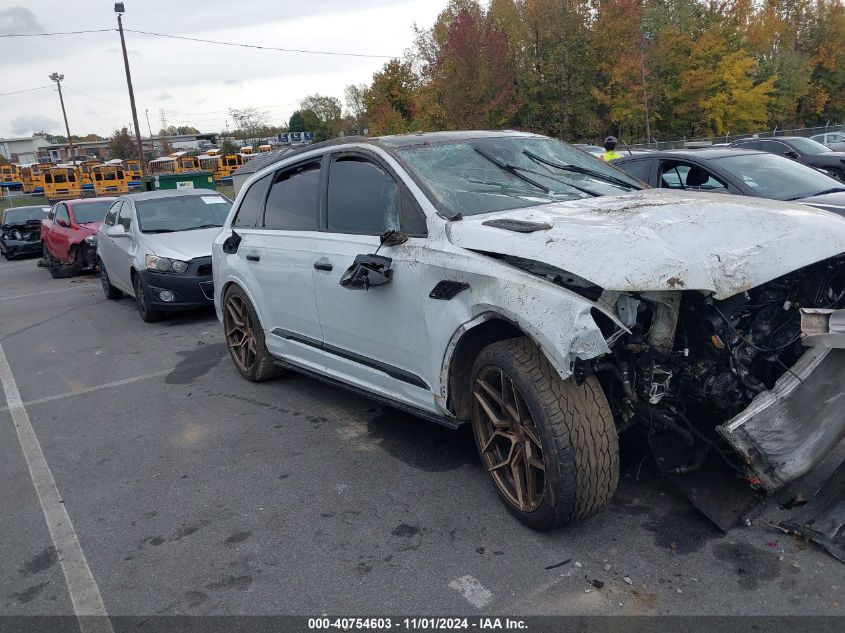
[[322,332],[311,276],[322,157],[271,172],[250,186],[232,228],[236,268],[253,297],[267,349],[322,371]]

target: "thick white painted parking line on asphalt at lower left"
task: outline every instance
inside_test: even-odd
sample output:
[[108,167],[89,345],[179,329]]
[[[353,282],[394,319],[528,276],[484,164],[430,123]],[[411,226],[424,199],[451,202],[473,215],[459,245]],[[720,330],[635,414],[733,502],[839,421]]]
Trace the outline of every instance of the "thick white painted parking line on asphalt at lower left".
[[91,575],[91,569],[79,545],[73,523],[56,488],[53,473],[50,472],[50,467],[44,458],[44,452],[32,428],[29,414],[21,402],[21,395],[2,345],[0,345],[0,382],[3,383],[6,402],[18,433],[18,441],[65,575],[73,611],[79,620],[79,628],[82,633],[114,633],[106,614],[103,598],[100,596],[100,590],[94,576]]

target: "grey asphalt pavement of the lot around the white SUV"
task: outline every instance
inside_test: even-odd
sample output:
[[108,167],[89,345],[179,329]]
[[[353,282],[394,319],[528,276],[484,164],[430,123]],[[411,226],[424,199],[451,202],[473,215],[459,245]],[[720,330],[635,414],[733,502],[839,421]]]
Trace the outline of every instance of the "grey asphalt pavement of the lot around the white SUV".
[[[110,615],[843,614],[845,565],[776,505],[722,533],[627,441],[610,508],[536,533],[469,429],[248,383],[211,310],[145,324],[3,261],[0,346]],[[72,615],[15,424],[0,395],[0,615]]]

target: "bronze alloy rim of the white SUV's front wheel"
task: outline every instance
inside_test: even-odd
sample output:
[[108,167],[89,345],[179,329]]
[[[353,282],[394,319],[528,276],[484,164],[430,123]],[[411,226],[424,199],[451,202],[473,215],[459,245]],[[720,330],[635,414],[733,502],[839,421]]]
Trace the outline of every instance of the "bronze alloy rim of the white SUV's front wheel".
[[546,496],[546,465],[525,397],[504,370],[488,366],[476,377],[473,406],[484,467],[514,508],[533,512]]

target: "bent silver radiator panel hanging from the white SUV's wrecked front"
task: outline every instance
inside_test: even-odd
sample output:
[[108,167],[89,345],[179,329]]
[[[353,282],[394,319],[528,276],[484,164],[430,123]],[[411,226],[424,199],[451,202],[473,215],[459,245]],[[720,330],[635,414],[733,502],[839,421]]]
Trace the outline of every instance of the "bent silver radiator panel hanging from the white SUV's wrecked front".
[[808,349],[774,389],[716,427],[767,492],[810,472],[845,437],[845,350]]

